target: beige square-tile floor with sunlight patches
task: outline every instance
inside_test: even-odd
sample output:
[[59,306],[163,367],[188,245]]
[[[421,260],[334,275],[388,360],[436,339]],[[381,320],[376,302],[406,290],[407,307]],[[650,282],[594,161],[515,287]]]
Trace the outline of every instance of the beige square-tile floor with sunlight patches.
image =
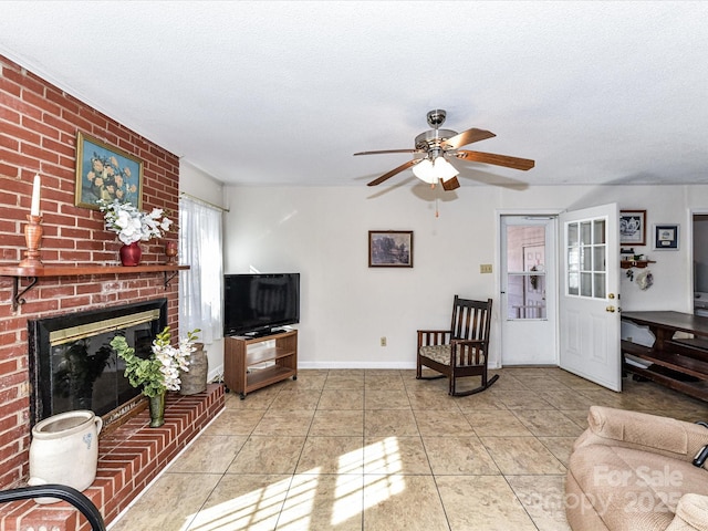
[[494,373],[458,398],[445,379],[379,369],[227,395],[111,529],[569,530],[565,464],[591,405],[708,419],[708,404],[650,382],[616,394],[559,368]]

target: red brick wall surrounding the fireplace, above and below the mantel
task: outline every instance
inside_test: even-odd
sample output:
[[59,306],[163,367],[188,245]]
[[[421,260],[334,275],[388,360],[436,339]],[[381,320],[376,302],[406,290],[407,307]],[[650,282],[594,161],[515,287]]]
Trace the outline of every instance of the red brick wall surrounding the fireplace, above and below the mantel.
[[[103,215],[74,206],[76,132],[119,147],[144,162],[143,209],[164,208],[177,219],[179,160],[108,116],[0,55],[0,266],[24,258],[23,236],[34,174],[42,177],[44,266],[118,266],[116,235]],[[140,242],[142,263],[164,263],[164,244]],[[29,472],[27,321],[52,314],[167,296],[177,330],[177,279],[165,290],[162,273],[41,278],[12,312],[12,279],[0,277],[0,489]]]

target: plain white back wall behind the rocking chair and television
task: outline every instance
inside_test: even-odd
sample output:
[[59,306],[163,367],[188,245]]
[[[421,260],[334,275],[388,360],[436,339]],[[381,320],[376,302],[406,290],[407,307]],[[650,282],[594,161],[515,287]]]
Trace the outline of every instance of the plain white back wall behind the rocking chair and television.
[[[498,302],[498,211],[575,209],[617,202],[646,209],[647,225],[680,223],[679,251],[657,260],[654,287],[623,278],[625,310],[690,311],[689,209],[708,207],[708,187],[560,186],[524,190],[462,187],[438,197],[425,185],[395,188],[226,187],[225,272],[301,273],[301,367],[413,367],[415,331],[447,327],[454,294]],[[368,268],[368,230],[413,230],[414,268]],[[650,241],[650,235],[647,233]],[[624,272],[623,272],[624,274]],[[499,308],[494,312],[498,324]],[[490,363],[497,364],[493,325]],[[497,335],[497,336],[496,336]],[[379,346],[382,336],[387,346]]]

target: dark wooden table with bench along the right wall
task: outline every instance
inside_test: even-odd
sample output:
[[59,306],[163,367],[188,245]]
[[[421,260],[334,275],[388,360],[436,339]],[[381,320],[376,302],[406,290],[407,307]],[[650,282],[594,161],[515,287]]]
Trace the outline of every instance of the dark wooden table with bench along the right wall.
[[[708,402],[708,317],[680,312],[623,312],[622,320],[647,326],[655,337],[652,346],[622,341],[626,372]],[[691,337],[675,337],[677,332]],[[644,368],[627,363],[627,354],[652,365]]]

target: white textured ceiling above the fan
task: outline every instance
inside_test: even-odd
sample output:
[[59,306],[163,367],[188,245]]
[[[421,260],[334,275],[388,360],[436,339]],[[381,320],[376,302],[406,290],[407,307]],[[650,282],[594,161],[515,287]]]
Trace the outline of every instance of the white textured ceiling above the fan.
[[[0,54],[229,184],[361,185],[426,113],[462,186],[708,183],[708,2],[3,1]],[[410,170],[382,187],[406,183]]]

